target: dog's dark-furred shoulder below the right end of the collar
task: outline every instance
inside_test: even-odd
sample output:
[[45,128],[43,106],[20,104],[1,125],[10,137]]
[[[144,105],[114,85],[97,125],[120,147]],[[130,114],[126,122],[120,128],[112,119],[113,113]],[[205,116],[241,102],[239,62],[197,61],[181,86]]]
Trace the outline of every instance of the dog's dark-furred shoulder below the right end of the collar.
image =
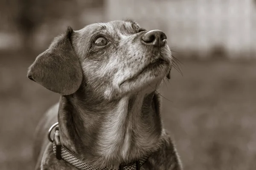
[[143,165],[145,170],[182,170],[175,145],[168,133],[163,134],[161,144]]

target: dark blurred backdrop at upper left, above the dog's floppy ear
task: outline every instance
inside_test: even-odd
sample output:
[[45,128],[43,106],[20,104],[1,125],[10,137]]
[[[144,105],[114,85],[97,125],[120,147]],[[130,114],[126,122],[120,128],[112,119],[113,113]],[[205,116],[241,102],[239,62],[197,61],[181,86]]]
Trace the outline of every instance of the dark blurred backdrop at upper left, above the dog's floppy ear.
[[67,26],[102,21],[105,0],[0,0],[0,50],[43,50]]

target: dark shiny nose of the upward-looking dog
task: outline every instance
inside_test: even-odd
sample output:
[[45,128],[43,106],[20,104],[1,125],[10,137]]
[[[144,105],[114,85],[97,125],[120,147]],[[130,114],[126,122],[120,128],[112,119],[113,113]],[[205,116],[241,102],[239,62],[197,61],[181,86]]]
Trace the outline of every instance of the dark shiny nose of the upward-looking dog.
[[144,44],[149,46],[158,46],[162,47],[166,44],[166,35],[160,30],[152,30],[146,32],[142,37],[141,40]]

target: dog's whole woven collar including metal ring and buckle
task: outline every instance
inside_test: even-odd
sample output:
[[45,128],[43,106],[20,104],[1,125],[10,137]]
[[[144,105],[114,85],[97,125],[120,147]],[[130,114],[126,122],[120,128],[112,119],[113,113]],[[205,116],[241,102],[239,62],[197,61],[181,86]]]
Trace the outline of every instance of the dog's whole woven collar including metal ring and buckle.
[[[51,139],[50,135],[51,132],[55,128],[55,133],[53,135],[53,139]],[[79,159],[75,154],[71,153],[67,148],[61,146],[61,141],[59,138],[59,129],[58,129],[58,122],[53,124],[49,131],[48,131],[48,139],[53,143],[53,153],[56,155],[56,158],[61,160],[64,159],[68,163],[72,164],[74,167],[78,168],[79,170],[99,170],[98,168],[92,167],[86,162]],[[148,159],[149,155],[143,156],[140,160],[135,161],[134,163],[123,165],[120,164],[118,170],[140,170],[140,167],[145,163]],[[116,170],[113,168],[104,168],[103,170]]]

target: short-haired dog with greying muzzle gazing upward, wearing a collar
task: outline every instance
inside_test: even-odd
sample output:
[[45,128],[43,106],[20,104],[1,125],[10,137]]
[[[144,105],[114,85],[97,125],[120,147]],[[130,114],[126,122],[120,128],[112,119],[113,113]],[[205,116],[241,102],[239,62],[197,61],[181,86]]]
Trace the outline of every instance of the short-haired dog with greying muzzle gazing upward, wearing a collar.
[[38,55],[27,77],[61,97],[35,130],[36,170],[182,170],[156,91],[172,68],[166,38],[133,20],[69,26]]

